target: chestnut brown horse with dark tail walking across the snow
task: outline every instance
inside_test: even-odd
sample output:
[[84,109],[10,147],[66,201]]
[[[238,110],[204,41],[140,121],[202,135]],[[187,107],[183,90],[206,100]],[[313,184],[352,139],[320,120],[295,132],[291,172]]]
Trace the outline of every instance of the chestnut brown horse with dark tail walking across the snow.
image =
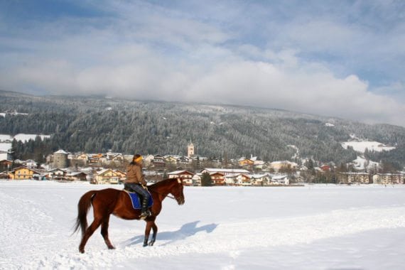
[[[173,198],[178,205],[185,202],[183,194],[183,181],[180,178],[169,178],[148,186],[148,190],[153,198],[153,205],[149,208],[151,215],[146,217],[144,247],[153,246],[156,241],[158,227],[156,226],[156,217],[162,210],[162,201],[166,198]],[[171,197],[171,195],[173,197]],[[87,212],[93,207],[94,220],[90,226],[87,226]],[[124,220],[140,220],[141,210],[132,207],[131,199],[125,190],[106,188],[103,190],[90,190],[80,198],[77,204],[77,218],[74,232],[80,228],[82,231],[82,240],[79,245],[79,252],[85,253],[87,240],[92,236],[95,230],[101,225],[101,234],[105,244],[109,249],[115,249],[108,237],[109,216],[115,215]],[[151,242],[148,242],[149,234],[153,229]]]

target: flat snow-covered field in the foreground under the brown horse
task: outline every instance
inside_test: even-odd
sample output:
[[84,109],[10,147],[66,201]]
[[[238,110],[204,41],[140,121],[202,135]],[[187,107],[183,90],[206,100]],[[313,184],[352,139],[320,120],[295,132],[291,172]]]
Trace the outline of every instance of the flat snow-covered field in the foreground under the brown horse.
[[117,249],[97,229],[80,254],[77,201],[109,187],[0,181],[0,269],[404,269],[404,185],[186,187],[185,205],[163,201],[155,246],[145,222],[112,217]]

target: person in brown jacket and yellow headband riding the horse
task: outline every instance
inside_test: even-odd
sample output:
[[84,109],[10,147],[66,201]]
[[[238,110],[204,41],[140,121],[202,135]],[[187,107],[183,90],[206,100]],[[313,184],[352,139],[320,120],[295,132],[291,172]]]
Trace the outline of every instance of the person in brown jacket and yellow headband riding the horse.
[[146,180],[142,173],[142,156],[134,155],[131,163],[126,167],[126,180],[124,188],[129,191],[134,191],[142,198],[141,218],[148,217],[151,212],[148,210],[148,201],[150,194],[146,187]]

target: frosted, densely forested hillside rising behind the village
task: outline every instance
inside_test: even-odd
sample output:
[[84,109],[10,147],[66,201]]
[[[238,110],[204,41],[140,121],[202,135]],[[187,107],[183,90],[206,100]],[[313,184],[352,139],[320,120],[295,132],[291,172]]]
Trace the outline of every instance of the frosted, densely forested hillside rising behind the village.
[[[405,129],[368,125],[281,110],[173,102],[139,102],[105,97],[36,97],[0,91],[0,134],[50,134],[44,151],[185,154],[192,141],[200,156],[264,161],[297,157],[336,164],[356,158],[340,145],[358,138],[396,146],[367,152],[374,161],[405,165]],[[296,147],[294,147],[296,146]]]

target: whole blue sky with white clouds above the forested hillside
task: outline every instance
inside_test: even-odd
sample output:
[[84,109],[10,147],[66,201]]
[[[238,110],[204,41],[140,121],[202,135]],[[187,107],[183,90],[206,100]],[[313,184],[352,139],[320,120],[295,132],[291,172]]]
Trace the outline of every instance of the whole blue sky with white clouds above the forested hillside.
[[0,89],[405,126],[405,1],[1,1]]

